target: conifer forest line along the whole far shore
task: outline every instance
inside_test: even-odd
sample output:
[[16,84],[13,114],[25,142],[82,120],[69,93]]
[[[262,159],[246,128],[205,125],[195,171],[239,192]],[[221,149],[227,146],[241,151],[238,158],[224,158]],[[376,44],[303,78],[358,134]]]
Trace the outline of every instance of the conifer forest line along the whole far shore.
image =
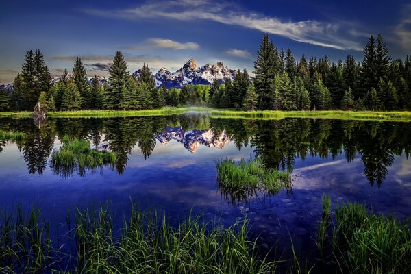
[[160,86],[149,66],[138,75],[116,52],[108,79],[88,79],[80,58],[71,73],[64,69],[58,82],[39,50],[27,51],[21,73],[9,94],[0,90],[0,111],[32,110],[40,101],[48,110],[145,110],[164,106],[208,105],[243,110],[411,110],[411,57],[393,60],[382,36],[371,36],[364,58],[352,55],[330,62],[327,55],[299,62],[292,51],[278,49],[264,34],[254,62],[254,77],[246,69],[234,79],[181,89]]

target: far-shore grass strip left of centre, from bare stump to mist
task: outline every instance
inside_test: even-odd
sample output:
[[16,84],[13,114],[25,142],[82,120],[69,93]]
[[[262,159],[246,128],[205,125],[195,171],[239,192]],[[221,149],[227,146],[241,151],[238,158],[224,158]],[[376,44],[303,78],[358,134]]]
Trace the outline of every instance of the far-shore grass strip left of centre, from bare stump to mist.
[[184,114],[186,112],[210,112],[210,108],[164,108],[161,110],[78,110],[68,112],[48,112],[48,117],[55,118],[109,118],[133,116],[166,116]]

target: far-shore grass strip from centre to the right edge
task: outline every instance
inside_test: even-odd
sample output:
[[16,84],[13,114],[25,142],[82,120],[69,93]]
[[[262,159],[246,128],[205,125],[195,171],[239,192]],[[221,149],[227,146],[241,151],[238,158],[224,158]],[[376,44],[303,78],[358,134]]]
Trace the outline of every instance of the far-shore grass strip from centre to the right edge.
[[410,122],[411,112],[353,112],[343,110],[324,111],[235,111],[213,110],[213,118],[245,118],[245,119],[284,119],[284,118],[318,118],[318,119],[344,119],[344,120],[372,120]]

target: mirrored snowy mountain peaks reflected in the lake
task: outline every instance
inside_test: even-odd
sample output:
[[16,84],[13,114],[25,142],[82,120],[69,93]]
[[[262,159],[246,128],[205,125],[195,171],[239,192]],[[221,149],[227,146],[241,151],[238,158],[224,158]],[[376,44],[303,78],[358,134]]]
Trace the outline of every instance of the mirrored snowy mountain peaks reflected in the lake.
[[155,134],[155,138],[162,144],[166,145],[171,140],[177,140],[182,143],[188,151],[195,153],[199,145],[207,147],[216,147],[223,149],[225,145],[233,140],[231,136],[227,136],[225,131],[220,134],[214,134],[211,129],[208,130],[188,130],[184,131],[181,126],[166,127],[165,132]]

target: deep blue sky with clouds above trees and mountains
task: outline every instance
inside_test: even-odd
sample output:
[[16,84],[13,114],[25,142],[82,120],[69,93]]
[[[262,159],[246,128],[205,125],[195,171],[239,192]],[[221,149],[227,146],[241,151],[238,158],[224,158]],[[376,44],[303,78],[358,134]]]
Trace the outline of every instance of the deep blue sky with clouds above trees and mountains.
[[0,84],[13,81],[29,49],[40,49],[55,77],[77,56],[89,77],[107,76],[116,51],[129,71],[146,63],[174,72],[194,58],[251,72],[264,33],[296,60],[360,61],[378,33],[393,58],[411,55],[409,0],[0,0],[0,10]]

